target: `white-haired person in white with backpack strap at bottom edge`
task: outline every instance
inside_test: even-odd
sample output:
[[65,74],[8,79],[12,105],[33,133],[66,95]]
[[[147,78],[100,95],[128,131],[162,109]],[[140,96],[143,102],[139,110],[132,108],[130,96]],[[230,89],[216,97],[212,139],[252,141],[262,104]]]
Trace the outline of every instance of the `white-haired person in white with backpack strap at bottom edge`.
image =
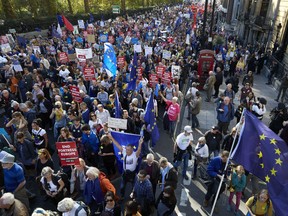
[[58,203],[57,210],[62,213],[62,216],[89,216],[89,207],[81,202],[74,201],[71,198],[64,198]]

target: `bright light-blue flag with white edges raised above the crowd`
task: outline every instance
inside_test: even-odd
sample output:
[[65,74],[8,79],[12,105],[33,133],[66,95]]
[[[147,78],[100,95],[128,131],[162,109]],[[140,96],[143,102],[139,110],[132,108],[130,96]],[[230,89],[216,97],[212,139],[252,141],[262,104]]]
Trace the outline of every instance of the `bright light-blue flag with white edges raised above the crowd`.
[[106,70],[108,76],[116,76],[117,58],[114,48],[110,43],[104,43],[103,67]]

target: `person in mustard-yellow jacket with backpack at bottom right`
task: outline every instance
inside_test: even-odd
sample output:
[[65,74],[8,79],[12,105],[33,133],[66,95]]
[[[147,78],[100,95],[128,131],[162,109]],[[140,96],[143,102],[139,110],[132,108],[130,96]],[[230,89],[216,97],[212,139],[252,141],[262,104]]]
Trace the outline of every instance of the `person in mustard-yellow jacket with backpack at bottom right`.
[[246,208],[248,209],[247,216],[273,215],[273,205],[266,189],[261,190],[258,195],[250,197],[246,202]]

